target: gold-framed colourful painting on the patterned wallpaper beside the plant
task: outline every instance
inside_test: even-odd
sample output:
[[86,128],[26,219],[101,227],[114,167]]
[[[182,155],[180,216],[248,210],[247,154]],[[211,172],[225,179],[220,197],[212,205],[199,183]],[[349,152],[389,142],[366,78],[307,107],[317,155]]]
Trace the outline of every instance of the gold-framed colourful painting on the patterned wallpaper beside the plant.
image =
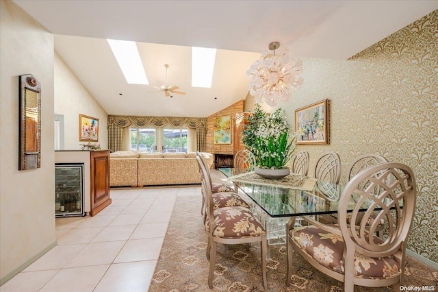
[[295,110],[297,144],[329,144],[329,99]]

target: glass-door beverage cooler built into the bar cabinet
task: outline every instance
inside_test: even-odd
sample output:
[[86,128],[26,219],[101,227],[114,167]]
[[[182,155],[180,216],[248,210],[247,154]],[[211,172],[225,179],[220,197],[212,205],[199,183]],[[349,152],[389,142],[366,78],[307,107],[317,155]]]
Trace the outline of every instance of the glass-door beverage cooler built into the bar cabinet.
[[55,217],[85,216],[83,163],[55,164]]

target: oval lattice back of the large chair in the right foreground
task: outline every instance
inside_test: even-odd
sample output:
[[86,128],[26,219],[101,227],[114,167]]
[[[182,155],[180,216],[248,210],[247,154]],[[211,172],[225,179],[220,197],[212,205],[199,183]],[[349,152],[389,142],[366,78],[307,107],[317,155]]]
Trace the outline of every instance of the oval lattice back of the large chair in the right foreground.
[[[401,250],[400,258],[403,261],[415,198],[415,178],[407,165],[382,162],[355,175],[342,192],[337,212],[339,229],[349,254],[346,258],[353,258],[355,251],[381,258]],[[348,224],[346,210],[352,200],[356,205],[349,216],[352,222],[357,222],[357,217],[363,216],[359,226]],[[383,239],[374,235],[381,224],[385,225]]]

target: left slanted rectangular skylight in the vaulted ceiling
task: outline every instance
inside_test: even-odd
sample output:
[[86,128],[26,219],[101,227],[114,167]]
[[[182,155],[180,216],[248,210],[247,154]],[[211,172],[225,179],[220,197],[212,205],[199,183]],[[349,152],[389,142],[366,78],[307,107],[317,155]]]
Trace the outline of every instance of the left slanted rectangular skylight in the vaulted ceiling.
[[129,84],[149,84],[136,42],[109,39],[107,41],[126,81]]

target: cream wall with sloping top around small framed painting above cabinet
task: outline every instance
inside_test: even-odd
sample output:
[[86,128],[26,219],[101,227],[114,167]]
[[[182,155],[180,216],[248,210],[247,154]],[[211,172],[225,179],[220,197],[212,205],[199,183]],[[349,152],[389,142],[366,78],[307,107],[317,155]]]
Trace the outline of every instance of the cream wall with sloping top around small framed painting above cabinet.
[[[107,113],[55,51],[55,113],[64,115],[64,149],[81,149],[79,114],[99,119],[99,143],[107,149]],[[93,144],[95,144],[93,142]]]

